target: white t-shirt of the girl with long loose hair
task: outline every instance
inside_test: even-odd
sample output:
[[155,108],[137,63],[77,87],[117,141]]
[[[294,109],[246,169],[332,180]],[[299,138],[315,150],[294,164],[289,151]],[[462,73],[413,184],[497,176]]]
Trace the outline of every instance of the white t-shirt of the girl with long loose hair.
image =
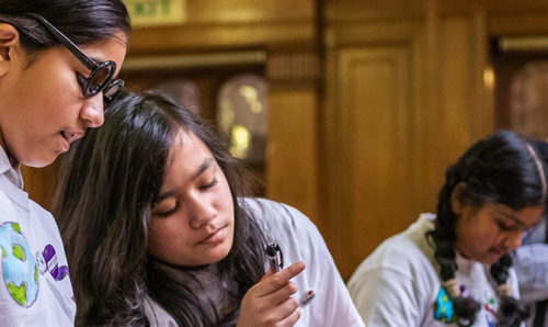
[[[358,327],[364,326],[344,282],[318,228],[298,210],[264,199],[246,199],[246,210],[253,216],[269,241],[282,249],[284,267],[302,261],[305,271],[293,281],[299,302],[312,291],[313,296],[300,305],[295,326]],[[265,262],[265,269],[267,269]],[[176,326],[173,318],[156,302],[146,302],[146,314],[152,326]]]

